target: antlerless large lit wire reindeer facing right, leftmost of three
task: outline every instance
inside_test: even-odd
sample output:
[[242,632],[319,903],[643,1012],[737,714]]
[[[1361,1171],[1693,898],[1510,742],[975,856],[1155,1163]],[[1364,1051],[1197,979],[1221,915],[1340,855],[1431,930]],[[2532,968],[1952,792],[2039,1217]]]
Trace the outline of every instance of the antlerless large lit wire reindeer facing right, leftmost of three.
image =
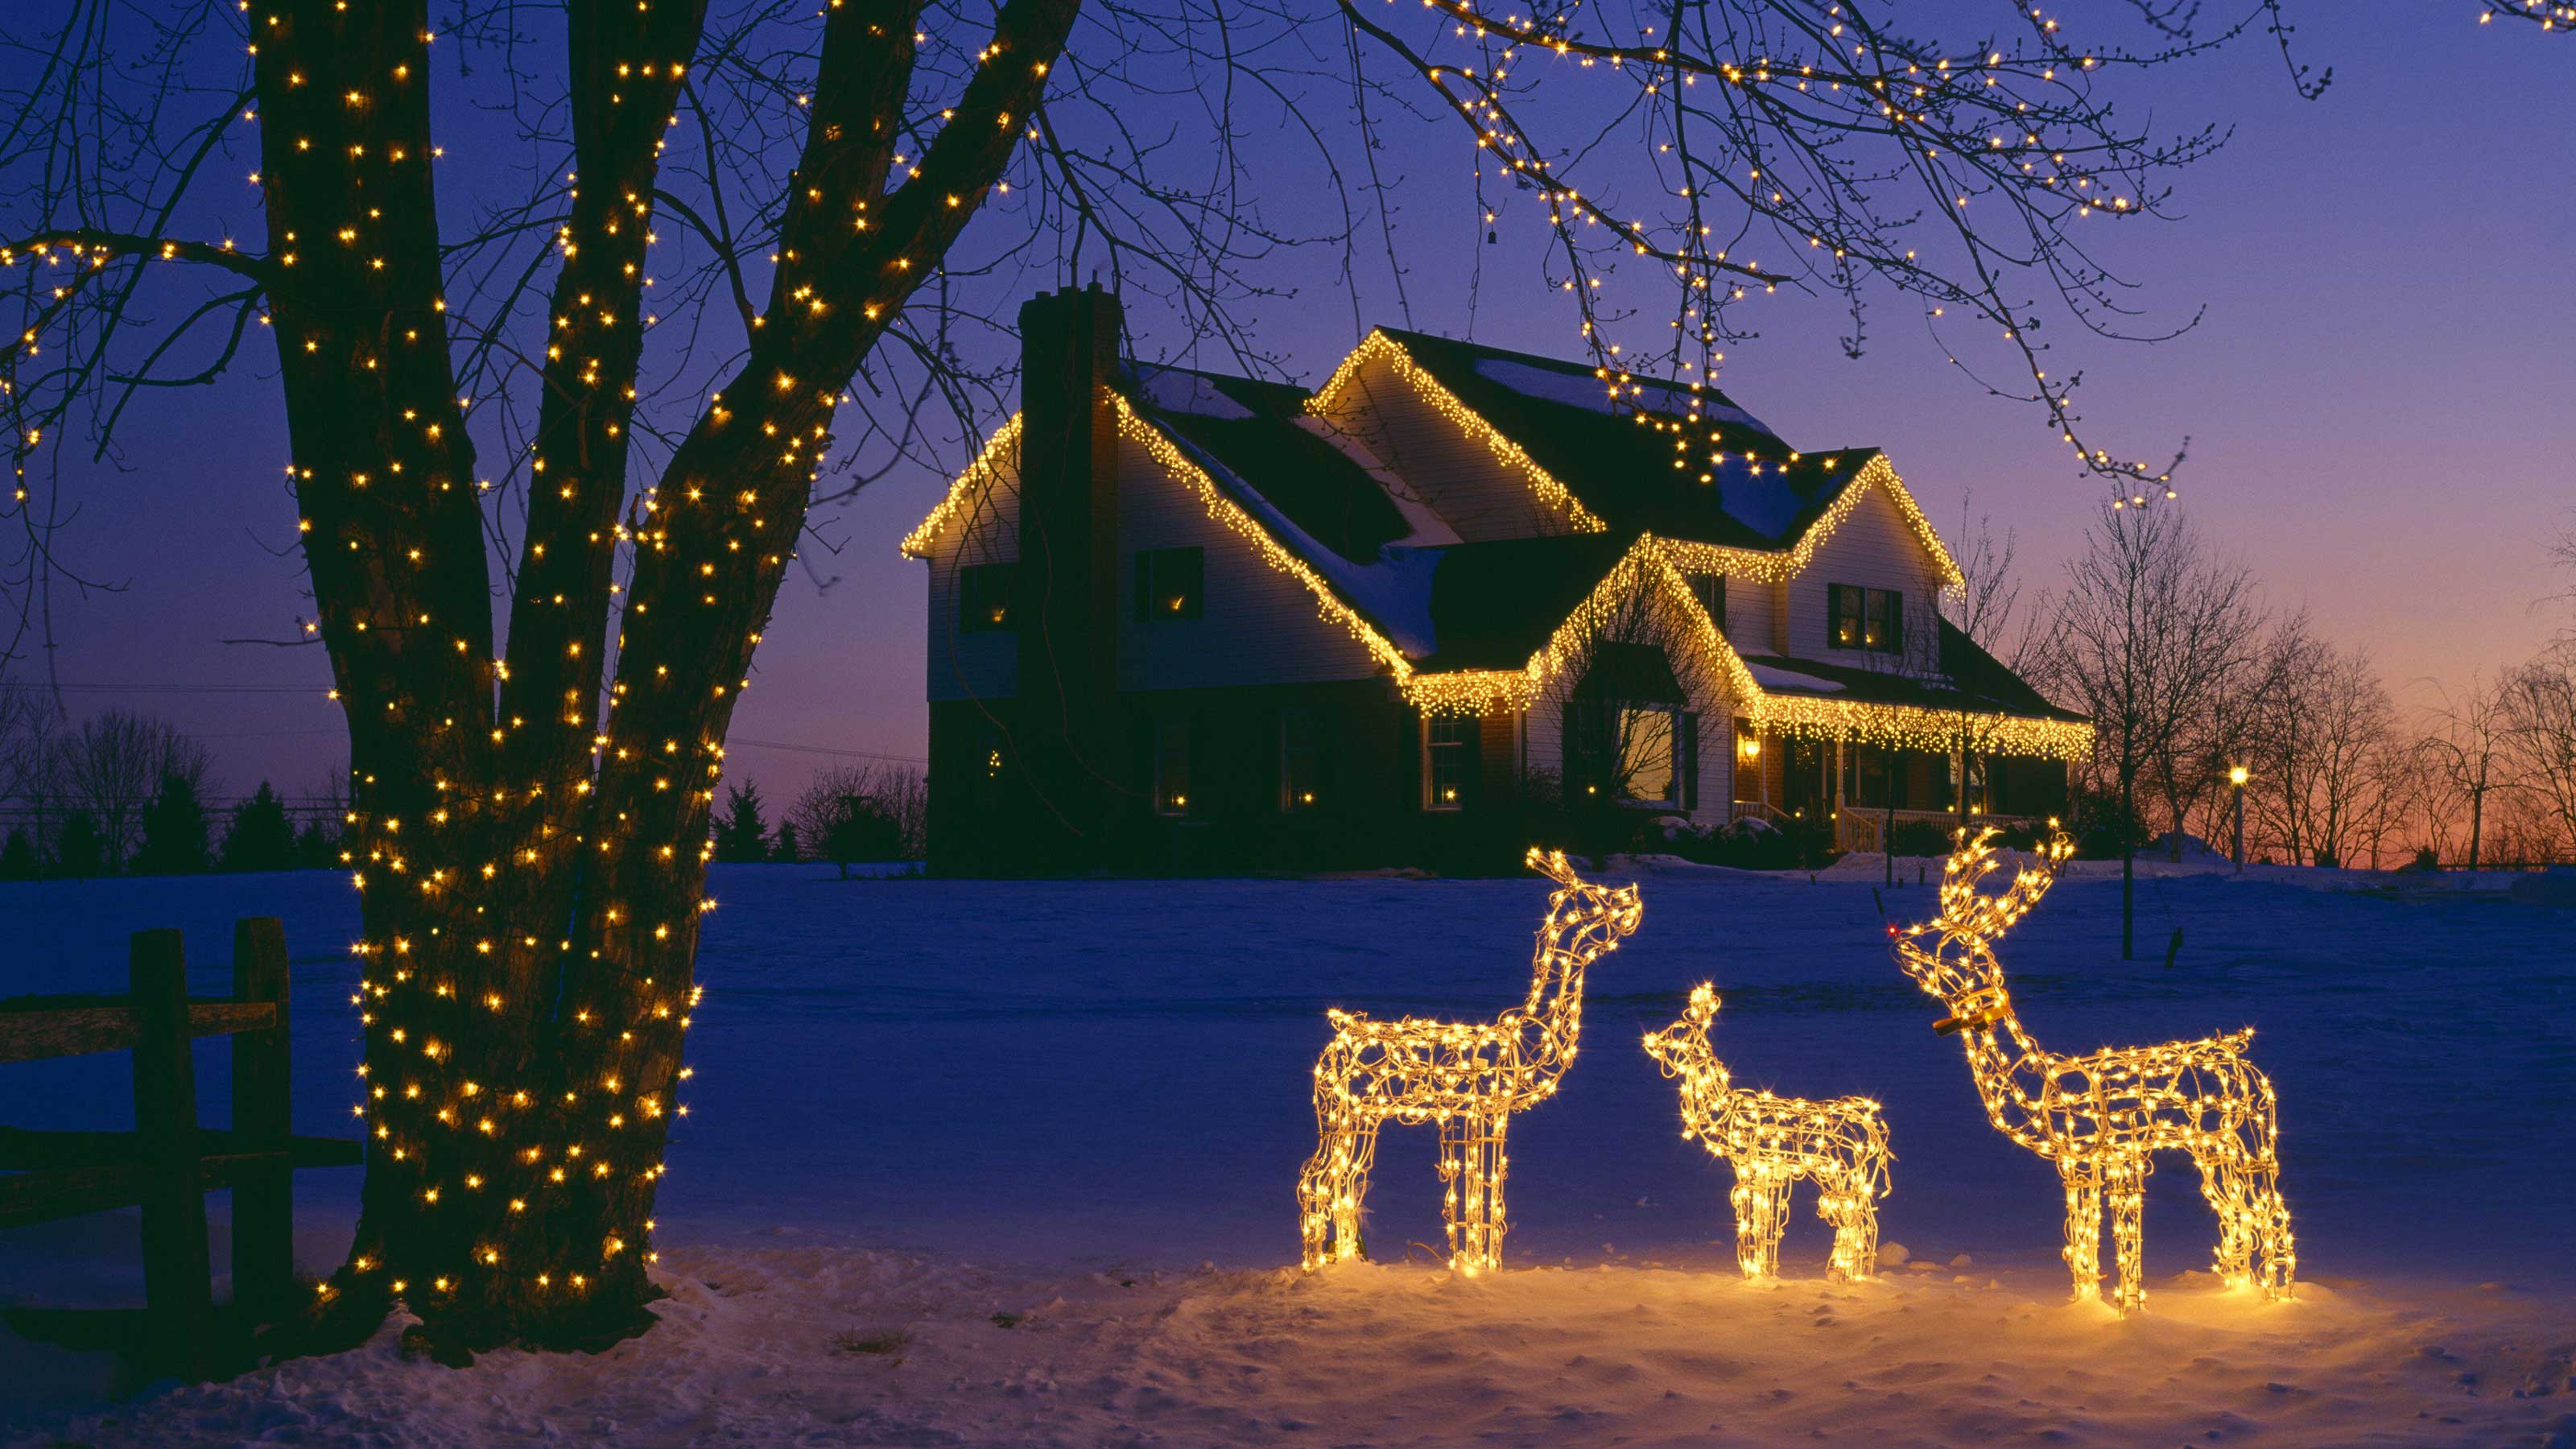
[[1558,884],[1538,928],[1528,1003],[1494,1021],[1327,1013],[1332,1044],[1314,1065],[1319,1140],[1296,1189],[1306,1269],[1360,1253],[1360,1204],[1386,1122],[1440,1124],[1450,1266],[1476,1274],[1502,1263],[1504,1127],[1556,1096],[1582,1031],[1584,967],[1615,951],[1643,915],[1633,884],[1587,884],[1564,851],[1533,848],[1528,864]]

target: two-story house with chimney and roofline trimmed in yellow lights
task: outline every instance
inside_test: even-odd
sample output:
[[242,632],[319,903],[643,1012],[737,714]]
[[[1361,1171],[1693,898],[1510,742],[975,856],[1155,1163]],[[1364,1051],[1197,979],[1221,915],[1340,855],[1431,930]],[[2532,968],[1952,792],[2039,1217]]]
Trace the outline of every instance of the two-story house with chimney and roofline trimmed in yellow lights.
[[1023,410],[930,565],[943,871],[1507,861],[1540,807],[2045,815],[2089,727],[1940,619],[1875,449],[1716,387],[1381,327],[1324,387],[1020,309]]

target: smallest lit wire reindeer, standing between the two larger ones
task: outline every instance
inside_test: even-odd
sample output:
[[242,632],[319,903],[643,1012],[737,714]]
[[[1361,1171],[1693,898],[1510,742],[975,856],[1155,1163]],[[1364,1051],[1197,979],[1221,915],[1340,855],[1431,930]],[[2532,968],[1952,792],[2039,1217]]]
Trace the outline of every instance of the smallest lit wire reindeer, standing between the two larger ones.
[[1718,993],[1700,982],[1690,1008],[1672,1026],[1646,1036],[1646,1055],[1682,1080],[1682,1137],[1698,1137],[1710,1155],[1736,1171],[1736,1266],[1747,1279],[1780,1271],[1780,1232],[1788,1230],[1788,1189],[1816,1183],[1816,1217],[1834,1230],[1834,1281],[1878,1271],[1878,1199],[1888,1191],[1888,1127],[1878,1104],[1862,1096],[1798,1101],[1744,1091],[1708,1047],[1718,1018]]

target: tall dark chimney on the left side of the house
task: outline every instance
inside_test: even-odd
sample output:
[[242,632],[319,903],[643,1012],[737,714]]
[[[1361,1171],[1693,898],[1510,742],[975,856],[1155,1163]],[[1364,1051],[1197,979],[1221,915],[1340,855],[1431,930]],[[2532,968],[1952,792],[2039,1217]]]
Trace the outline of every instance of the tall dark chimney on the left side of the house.
[[1036,861],[1100,864],[1121,781],[1136,773],[1118,709],[1118,371],[1126,312],[1100,284],[1020,307],[1023,621],[1015,730]]

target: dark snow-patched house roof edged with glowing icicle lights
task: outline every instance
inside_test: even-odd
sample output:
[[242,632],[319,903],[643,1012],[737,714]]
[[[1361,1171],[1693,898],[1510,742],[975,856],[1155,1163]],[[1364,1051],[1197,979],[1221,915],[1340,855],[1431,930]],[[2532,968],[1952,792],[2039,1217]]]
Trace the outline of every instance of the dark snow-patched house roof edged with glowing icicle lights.
[[[1600,492],[1595,480],[1615,480],[1620,469],[1659,464],[1672,472],[1672,425],[1680,420],[1662,433],[1651,413],[1646,423],[1636,423],[1638,413],[1613,410],[1610,384],[1577,364],[1378,330],[1345,358],[1321,397],[1329,400],[1370,348],[1394,348],[1401,366],[1414,369],[1417,384],[1443,389],[1443,410],[1463,410],[1461,425],[1486,431],[1497,454],[1525,467],[1540,492],[1561,487],[1546,459],[1582,469],[1577,477],[1587,492]],[[1419,361],[1414,348],[1435,361]],[[1602,405],[1584,402],[1582,387],[1600,387]],[[1625,387],[1631,400],[1656,400],[1643,392],[1649,384],[1628,379]],[[1873,449],[1808,454],[1790,472],[1775,469],[1772,503],[1795,503],[1759,513],[1765,526],[1780,529],[1775,534],[1736,516],[1734,508],[1752,511],[1744,490],[1734,495],[1734,508],[1718,508],[1710,503],[1721,498],[1718,490],[1698,495],[1659,482],[1620,492],[1613,482],[1615,500],[1607,511],[1623,516],[1625,526],[1584,513],[1582,500],[1566,492],[1574,526],[1589,531],[1463,544],[1360,441],[1316,415],[1324,410],[1319,394],[1275,382],[1128,364],[1105,397],[1118,413],[1121,436],[1141,443],[1175,482],[1195,490],[1208,516],[1247,539],[1270,567],[1303,583],[1319,614],[1345,627],[1425,712],[1473,712],[1494,701],[1528,706],[1569,657],[1569,634],[1587,627],[1600,601],[1643,585],[1682,601],[1698,621],[1700,642],[1687,668],[1759,727],[1904,740],[1940,735],[1973,714],[1984,737],[2004,753],[2074,758],[2089,748],[2092,727],[2079,714],[2050,706],[1947,621],[1940,642],[1947,678],[1914,681],[1821,660],[1741,655],[1690,596],[1682,570],[1762,580],[1801,572],[1873,490],[1883,490],[1899,508],[1942,578],[1958,583],[1955,559],[1896,469]],[[1468,397],[1481,397],[1489,407],[1507,405],[1507,415],[1530,431],[1535,446],[1522,449],[1502,436]],[[1662,402],[1695,407],[1687,425],[1703,428],[1692,436],[1698,443],[1708,443],[1710,431],[1739,441],[1739,449],[1754,438],[1777,443],[1749,415],[1734,420],[1728,413],[1741,410],[1716,389],[1682,397],[1682,389],[1664,387]],[[1018,433],[1020,418],[1012,418],[987,441],[976,464],[958,474],[940,505],[904,539],[904,554],[927,557],[948,518],[994,480],[1015,474]],[[1664,441],[1641,454],[1628,446],[1638,436]],[[1801,477],[1798,464],[1808,464],[1811,477]],[[1736,467],[1752,482],[1762,474],[1749,469],[1770,464],[1754,446]],[[1649,521],[1687,531],[1664,531]]]

